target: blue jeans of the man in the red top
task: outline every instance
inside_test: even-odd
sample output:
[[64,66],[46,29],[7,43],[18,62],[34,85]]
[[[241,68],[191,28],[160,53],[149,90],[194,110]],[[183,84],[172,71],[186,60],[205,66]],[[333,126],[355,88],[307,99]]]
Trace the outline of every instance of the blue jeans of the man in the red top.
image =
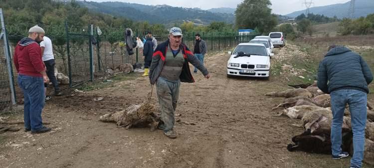
[[41,121],[41,111],[44,108],[43,77],[18,74],[17,80],[24,96],[24,127],[31,129],[31,131],[37,131],[43,127]]

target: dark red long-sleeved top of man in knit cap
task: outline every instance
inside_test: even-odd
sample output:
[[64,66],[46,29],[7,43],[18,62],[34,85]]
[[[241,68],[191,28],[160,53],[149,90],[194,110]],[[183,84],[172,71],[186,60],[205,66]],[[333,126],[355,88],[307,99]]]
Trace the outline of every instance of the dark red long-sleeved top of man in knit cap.
[[13,62],[19,74],[43,77],[41,71],[45,71],[41,50],[37,42],[31,38],[22,38],[14,49]]

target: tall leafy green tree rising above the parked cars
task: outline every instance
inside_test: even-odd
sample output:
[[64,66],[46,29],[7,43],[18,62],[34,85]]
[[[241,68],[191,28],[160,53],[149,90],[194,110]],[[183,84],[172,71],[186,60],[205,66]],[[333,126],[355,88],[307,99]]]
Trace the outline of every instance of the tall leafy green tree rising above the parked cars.
[[236,27],[269,32],[278,23],[277,16],[271,14],[270,5],[270,0],[244,0],[235,10]]

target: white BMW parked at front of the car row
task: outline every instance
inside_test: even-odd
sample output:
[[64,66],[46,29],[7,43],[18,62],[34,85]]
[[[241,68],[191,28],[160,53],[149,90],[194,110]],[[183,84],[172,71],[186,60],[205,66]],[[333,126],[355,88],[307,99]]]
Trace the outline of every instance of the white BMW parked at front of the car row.
[[252,76],[269,79],[270,56],[263,43],[240,43],[234,52],[228,52],[227,77]]

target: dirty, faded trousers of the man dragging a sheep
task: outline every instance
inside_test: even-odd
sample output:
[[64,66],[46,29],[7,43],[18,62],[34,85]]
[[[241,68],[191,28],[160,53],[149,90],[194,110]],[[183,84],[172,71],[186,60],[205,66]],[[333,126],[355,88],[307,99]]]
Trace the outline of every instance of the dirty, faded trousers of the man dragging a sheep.
[[175,124],[175,111],[179,99],[179,88],[181,81],[170,81],[163,77],[159,77],[156,82],[157,97],[160,102],[161,121],[164,126],[164,132],[173,130]]

